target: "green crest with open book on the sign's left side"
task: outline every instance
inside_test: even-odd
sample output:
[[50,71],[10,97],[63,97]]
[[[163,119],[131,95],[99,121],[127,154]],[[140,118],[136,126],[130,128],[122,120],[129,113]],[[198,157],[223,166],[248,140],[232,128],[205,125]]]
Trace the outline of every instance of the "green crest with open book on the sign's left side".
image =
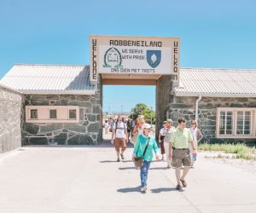
[[108,49],[104,55],[103,67],[123,68],[121,64],[122,64],[122,56],[119,50],[116,48]]

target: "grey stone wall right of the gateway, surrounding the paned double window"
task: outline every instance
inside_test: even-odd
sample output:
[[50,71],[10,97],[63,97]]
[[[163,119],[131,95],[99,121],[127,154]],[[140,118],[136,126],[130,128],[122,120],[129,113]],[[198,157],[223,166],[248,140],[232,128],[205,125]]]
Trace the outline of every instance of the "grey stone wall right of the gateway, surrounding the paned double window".
[[[183,116],[187,119],[188,127],[191,120],[195,119],[195,100],[197,97],[176,97],[172,95],[169,103],[169,117],[177,126],[177,118]],[[245,142],[256,145],[255,139],[218,139],[216,138],[217,107],[256,107],[256,98],[222,98],[202,97],[199,102],[199,128],[204,135],[202,141],[216,142]]]

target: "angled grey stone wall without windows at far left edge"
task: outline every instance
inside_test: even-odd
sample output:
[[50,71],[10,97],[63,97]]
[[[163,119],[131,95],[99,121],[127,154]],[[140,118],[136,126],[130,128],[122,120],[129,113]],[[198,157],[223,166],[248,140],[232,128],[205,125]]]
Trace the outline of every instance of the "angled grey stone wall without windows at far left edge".
[[22,95],[0,85],[0,153],[21,147]]

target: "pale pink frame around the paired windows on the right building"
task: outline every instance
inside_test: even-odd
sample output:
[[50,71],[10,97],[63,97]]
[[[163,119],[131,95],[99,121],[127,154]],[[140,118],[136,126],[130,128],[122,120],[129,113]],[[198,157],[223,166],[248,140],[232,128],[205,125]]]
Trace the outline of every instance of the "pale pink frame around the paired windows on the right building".
[[[220,112],[233,112],[233,124],[232,124],[232,135],[221,135],[219,134],[219,125],[220,125]],[[237,112],[251,112],[251,125],[250,125],[250,135],[239,135],[236,133],[237,130]],[[243,117],[244,118],[244,117]],[[254,139],[256,138],[256,108],[244,108],[244,107],[218,107],[217,114],[216,114],[216,137],[221,139],[229,139],[229,138],[236,138],[236,139]],[[243,121],[244,124],[244,121]],[[243,126],[244,130],[244,126]]]

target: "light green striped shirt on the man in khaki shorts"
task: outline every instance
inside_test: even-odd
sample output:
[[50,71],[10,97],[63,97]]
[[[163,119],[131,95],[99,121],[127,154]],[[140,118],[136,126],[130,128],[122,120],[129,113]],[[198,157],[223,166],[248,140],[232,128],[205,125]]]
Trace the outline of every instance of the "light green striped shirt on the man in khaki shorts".
[[175,148],[188,148],[189,141],[193,141],[193,137],[188,128],[184,130],[176,129],[171,135],[172,146]]

